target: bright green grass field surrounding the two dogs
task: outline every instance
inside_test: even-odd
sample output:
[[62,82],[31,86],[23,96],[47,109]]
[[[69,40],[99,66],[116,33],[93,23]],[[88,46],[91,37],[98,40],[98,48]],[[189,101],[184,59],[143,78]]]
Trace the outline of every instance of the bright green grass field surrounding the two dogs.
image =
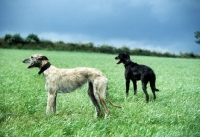
[[[22,60],[34,53],[46,55],[59,68],[94,67],[109,79],[110,116],[94,116],[87,85],[70,94],[58,94],[57,113],[46,115],[45,79]],[[141,82],[125,98],[124,66],[116,55],[38,50],[0,49],[0,136],[5,137],[198,137],[200,136],[200,60],[131,56],[149,65],[157,75],[157,100],[148,86],[145,103]]]

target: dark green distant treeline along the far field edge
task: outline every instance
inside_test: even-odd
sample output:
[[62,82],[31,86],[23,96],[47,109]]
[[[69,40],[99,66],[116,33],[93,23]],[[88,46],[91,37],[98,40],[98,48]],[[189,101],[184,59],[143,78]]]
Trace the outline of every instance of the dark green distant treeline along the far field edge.
[[170,52],[150,51],[146,49],[130,49],[126,46],[119,48],[106,44],[95,46],[93,43],[64,43],[63,41],[52,42],[50,40],[41,40],[35,34],[29,34],[22,38],[20,34],[6,34],[0,38],[0,48],[11,49],[41,49],[41,50],[60,50],[60,51],[83,51],[96,53],[129,53],[130,55],[157,56],[157,57],[182,57],[182,58],[200,58],[200,55],[194,53],[180,53],[179,55]]

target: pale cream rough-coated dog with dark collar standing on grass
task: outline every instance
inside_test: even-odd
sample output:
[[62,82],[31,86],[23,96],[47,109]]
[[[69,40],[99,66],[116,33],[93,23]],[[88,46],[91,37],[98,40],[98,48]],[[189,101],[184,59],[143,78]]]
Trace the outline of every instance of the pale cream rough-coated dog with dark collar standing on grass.
[[105,93],[113,106],[121,108],[111,102],[107,87],[108,79],[98,69],[86,67],[59,69],[52,66],[48,58],[41,54],[34,54],[30,58],[25,59],[23,63],[31,63],[28,68],[38,67],[40,69],[38,74],[43,73],[46,79],[45,89],[48,91],[46,113],[49,113],[51,108],[53,108],[53,112],[56,112],[57,93],[72,92],[87,82],[88,95],[96,108],[97,116],[100,115],[100,106],[98,102],[100,102],[104,108],[105,118],[109,115],[109,110],[104,98]]

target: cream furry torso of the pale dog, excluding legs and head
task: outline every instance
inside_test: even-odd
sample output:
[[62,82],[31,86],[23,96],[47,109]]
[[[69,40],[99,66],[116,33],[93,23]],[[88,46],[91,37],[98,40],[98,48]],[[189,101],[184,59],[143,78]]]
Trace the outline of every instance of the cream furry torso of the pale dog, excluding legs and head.
[[107,82],[107,78],[100,70],[86,67],[59,69],[51,66],[44,72],[44,76],[46,78],[46,89],[56,89],[60,93],[74,91],[88,81],[93,83],[94,79],[98,77],[101,77],[101,80],[104,80],[105,83]]

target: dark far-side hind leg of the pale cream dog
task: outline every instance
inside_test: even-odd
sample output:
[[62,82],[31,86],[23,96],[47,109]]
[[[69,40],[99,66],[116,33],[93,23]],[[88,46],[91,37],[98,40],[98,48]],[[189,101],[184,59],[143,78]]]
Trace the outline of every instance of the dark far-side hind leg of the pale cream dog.
[[101,109],[100,109],[100,106],[99,106],[99,103],[98,103],[97,99],[94,96],[93,85],[92,85],[91,82],[88,83],[88,95],[89,95],[90,99],[92,100],[92,103],[95,106],[96,116],[98,117],[100,115]]

